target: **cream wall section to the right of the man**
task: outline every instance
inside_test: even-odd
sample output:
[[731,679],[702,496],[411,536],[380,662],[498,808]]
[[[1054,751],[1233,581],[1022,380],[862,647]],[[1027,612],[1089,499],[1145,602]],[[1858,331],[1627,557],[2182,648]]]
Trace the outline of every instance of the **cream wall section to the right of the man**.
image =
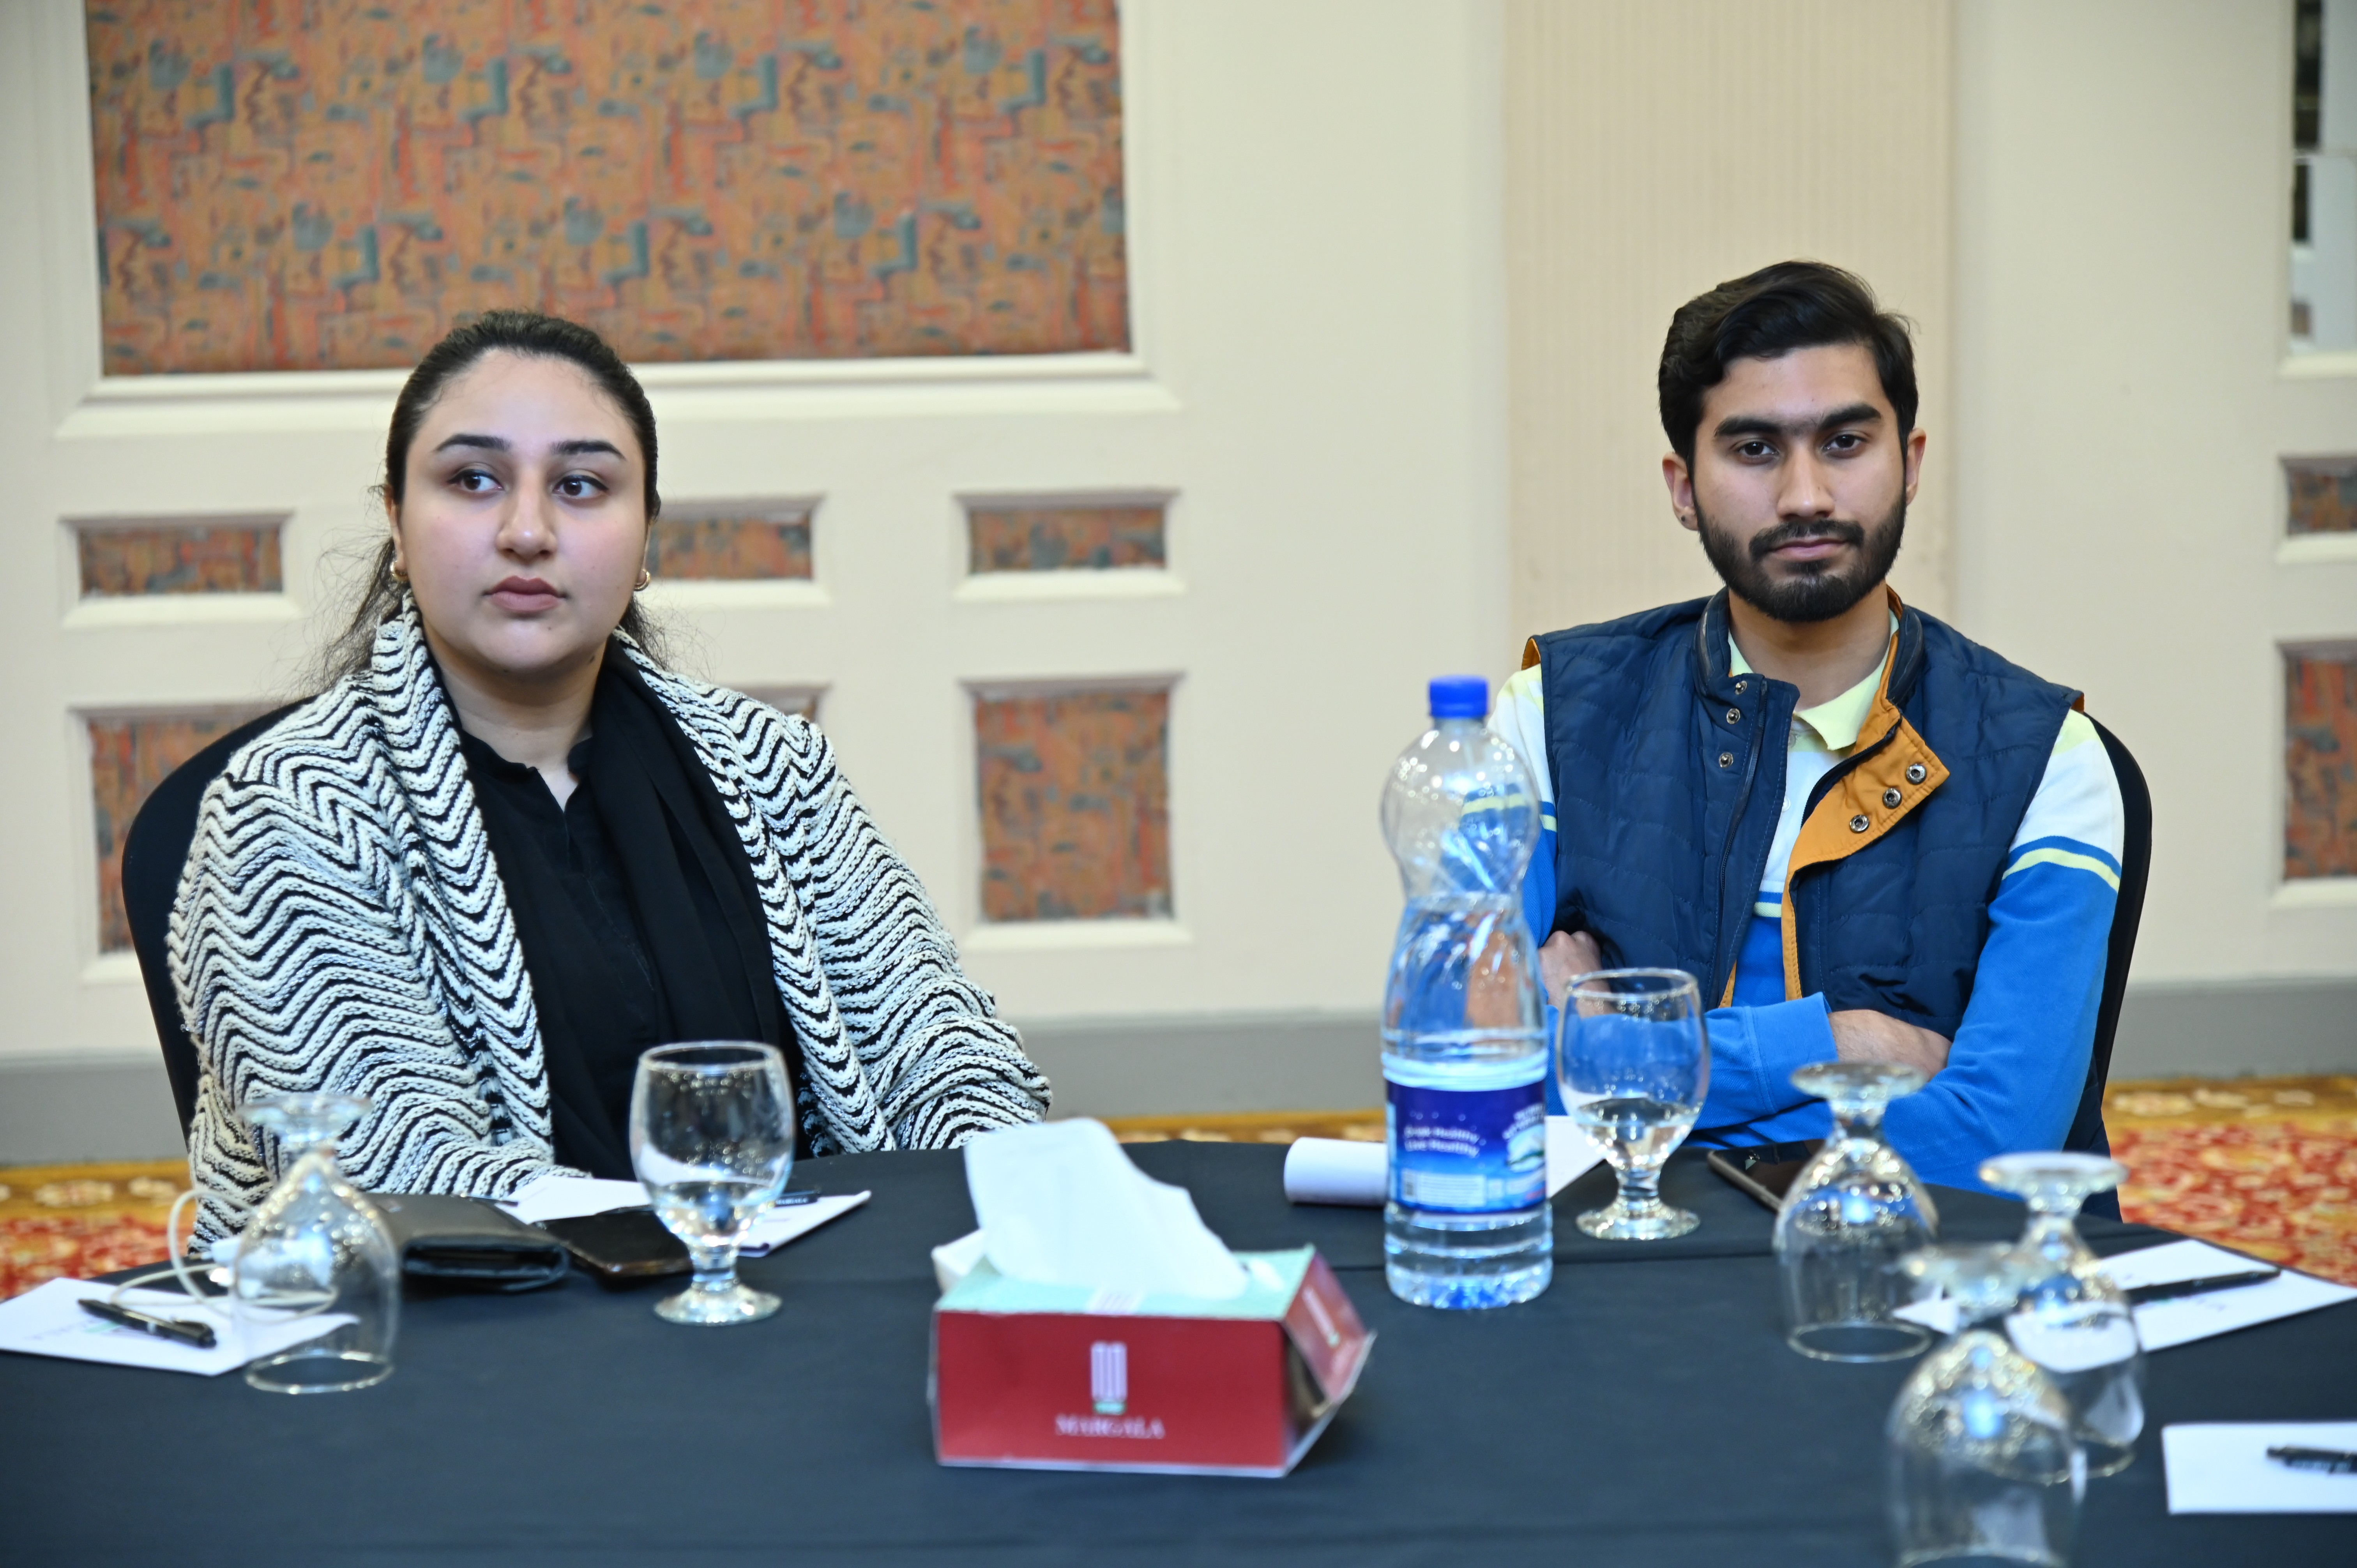
[[1959,618],[2152,780],[2138,981],[2352,976],[2357,882],[2282,887],[2277,644],[2357,637],[2284,547],[2277,460],[2357,450],[2357,363],[2286,368],[2291,5],[1966,5],[1956,149]]

